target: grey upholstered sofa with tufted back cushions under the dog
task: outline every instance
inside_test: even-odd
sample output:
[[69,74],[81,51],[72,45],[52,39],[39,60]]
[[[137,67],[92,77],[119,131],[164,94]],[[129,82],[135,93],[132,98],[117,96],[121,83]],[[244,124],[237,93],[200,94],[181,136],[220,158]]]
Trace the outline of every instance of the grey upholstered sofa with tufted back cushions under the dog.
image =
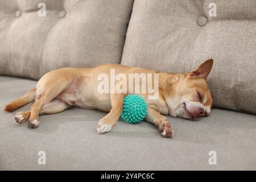
[[[0,0],[0,169],[255,170],[255,9],[253,0]],[[177,73],[208,58],[214,110],[196,122],[168,117],[171,139],[122,119],[97,135],[106,114],[97,110],[42,115],[37,129],[4,111],[53,69],[119,63]]]

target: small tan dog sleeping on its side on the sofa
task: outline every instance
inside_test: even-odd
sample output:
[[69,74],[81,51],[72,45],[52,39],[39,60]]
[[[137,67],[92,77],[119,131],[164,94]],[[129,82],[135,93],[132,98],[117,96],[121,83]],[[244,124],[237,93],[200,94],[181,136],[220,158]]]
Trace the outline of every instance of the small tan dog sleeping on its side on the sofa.
[[[169,114],[172,117],[182,117],[192,121],[209,115],[212,96],[206,78],[212,65],[213,60],[209,59],[196,71],[180,74],[156,72],[119,64],[104,64],[96,68],[61,68],[46,73],[40,78],[35,89],[11,102],[5,110],[14,111],[35,100],[31,110],[15,114],[16,123],[23,124],[28,120],[28,126],[35,128],[39,126],[39,114],[55,114],[72,106],[100,109],[109,113],[98,122],[97,133],[106,133],[117,124],[123,110],[124,97],[128,93],[99,93],[97,88],[100,81],[97,76],[100,73],[109,75],[110,69],[126,75],[158,73],[158,98],[148,100],[148,93],[140,95],[148,103],[146,121],[158,126],[164,137],[171,137],[174,131],[164,115]],[[130,89],[130,86],[128,88]]]

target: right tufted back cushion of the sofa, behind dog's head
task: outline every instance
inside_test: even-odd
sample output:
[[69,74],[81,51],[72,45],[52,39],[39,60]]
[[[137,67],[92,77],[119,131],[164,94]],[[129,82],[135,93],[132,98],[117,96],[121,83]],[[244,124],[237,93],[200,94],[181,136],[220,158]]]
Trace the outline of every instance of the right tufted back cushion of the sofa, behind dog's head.
[[135,0],[121,64],[178,73],[213,58],[213,105],[256,113],[256,1],[216,0],[209,16],[212,2]]

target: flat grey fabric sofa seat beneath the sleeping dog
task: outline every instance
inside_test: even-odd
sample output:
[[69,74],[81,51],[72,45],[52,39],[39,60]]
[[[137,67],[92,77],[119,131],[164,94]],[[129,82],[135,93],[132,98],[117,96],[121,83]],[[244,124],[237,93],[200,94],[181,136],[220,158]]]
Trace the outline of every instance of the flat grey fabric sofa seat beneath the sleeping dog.
[[[168,117],[172,139],[147,122],[119,121],[110,133],[97,135],[105,113],[85,109],[41,115],[40,126],[30,129],[16,125],[14,113],[3,109],[35,84],[0,77],[0,169],[256,170],[255,115],[214,109],[197,122]],[[39,151],[46,152],[46,165],[38,164]],[[216,165],[209,165],[209,151],[216,151]]]

